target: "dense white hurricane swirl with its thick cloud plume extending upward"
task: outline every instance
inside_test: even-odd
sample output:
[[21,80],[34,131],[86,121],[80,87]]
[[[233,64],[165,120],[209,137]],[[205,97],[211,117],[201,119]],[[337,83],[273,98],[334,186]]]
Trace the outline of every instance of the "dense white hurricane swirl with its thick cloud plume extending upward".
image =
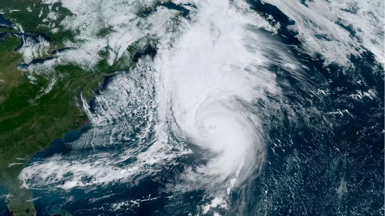
[[254,14],[226,1],[196,6],[175,44],[155,60],[159,103],[167,101],[162,108],[172,111],[177,130],[204,152],[206,162],[184,172],[189,185],[231,186],[263,161],[263,129],[250,103],[280,90],[263,67],[258,45],[266,38],[251,25]]

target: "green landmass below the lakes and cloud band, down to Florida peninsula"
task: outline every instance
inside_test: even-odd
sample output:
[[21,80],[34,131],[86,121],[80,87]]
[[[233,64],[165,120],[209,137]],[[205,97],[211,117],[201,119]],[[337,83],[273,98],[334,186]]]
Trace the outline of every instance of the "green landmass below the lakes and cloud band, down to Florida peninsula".
[[79,107],[80,90],[86,89],[90,97],[102,75],[85,73],[73,65],[57,66],[55,72],[65,75],[58,78],[49,93],[42,95],[42,87],[47,87],[50,80],[34,75],[36,83],[31,83],[17,69],[22,56],[13,49],[20,43],[18,40],[7,37],[0,43],[0,181],[12,195],[8,198],[10,211],[14,215],[33,215],[33,205],[27,201],[30,194],[18,181],[25,161],[16,158],[28,159],[54,138],[87,123]]

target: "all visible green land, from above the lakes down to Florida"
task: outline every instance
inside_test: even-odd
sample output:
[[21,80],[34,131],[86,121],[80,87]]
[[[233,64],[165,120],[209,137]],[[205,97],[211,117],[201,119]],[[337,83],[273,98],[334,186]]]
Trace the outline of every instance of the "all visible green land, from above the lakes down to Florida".
[[[0,13],[20,24],[25,33],[45,33],[50,37],[50,51],[63,48],[64,40],[74,40],[74,32],[52,33],[50,28],[40,25],[49,9],[39,0],[0,0],[0,5]],[[27,7],[32,12],[28,12]],[[55,20],[56,26],[66,15],[71,15],[59,3],[52,8],[58,8],[60,14]],[[18,11],[7,12],[10,9]],[[39,17],[41,11],[43,15]],[[109,31],[106,28],[100,34],[105,35]],[[132,58],[126,55],[125,60],[116,61],[121,63],[110,66],[105,60],[107,50],[104,50],[99,53],[102,60],[90,71],[82,70],[77,65],[58,65],[49,75],[34,73],[36,79],[31,81],[28,79],[30,72],[18,69],[23,57],[15,48],[20,45],[20,38],[12,33],[20,33],[20,29],[0,28],[2,32],[10,34],[0,38],[0,184],[8,191],[7,206],[13,215],[34,215],[30,192],[21,186],[18,179],[28,158],[47,147],[53,139],[87,124],[81,95],[90,100],[105,73],[127,68]],[[138,48],[133,45],[127,53],[137,51]],[[42,58],[50,56],[54,55]],[[54,86],[45,93],[53,79],[56,80]],[[28,213],[26,209],[29,209]]]

